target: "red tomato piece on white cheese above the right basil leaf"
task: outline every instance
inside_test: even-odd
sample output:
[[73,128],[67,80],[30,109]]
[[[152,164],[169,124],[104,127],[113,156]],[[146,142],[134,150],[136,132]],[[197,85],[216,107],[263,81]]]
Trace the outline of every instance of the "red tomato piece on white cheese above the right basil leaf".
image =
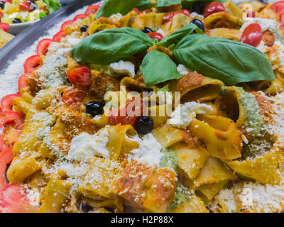
[[258,23],[251,23],[249,26],[244,28],[241,34],[241,43],[246,43],[257,47],[262,40],[262,29]]

